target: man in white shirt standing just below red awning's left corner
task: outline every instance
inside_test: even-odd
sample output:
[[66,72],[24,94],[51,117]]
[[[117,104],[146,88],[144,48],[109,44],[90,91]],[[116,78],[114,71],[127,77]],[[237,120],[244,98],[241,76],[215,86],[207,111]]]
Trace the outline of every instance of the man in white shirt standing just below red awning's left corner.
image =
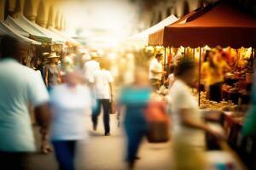
[[162,59],[163,54],[156,54],[149,65],[149,79],[154,90],[158,90],[160,88],[162,76],[163,74],[166,74],[166,71],[163,71],[163,66],[160,63]]

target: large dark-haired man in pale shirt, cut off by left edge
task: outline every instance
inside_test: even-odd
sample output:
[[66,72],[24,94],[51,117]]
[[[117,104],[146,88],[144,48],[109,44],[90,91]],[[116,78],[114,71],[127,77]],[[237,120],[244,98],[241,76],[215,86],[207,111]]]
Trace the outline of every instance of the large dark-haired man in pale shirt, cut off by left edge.
[[26,169],[26,156],[36,150],[28,105],[32,105],[42,134],[42,151],[49,128],[49,95],[43,78],[36,71],[20,65],[23,54],[20,42],[3,36],[0,59],[0,167]]

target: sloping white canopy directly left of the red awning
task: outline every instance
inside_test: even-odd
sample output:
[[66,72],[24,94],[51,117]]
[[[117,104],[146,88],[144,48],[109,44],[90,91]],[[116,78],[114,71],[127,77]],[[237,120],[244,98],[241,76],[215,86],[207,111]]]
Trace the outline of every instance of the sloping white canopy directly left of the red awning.
[[171,25],[175,21],[177,21],[177,17],[172,14],[169,17],[167,17],[165,20],[160,21],[158,24],[151,26],[147,30],[137,33],[132,37],[129,37],[127,39],[127,42],[134,43],[136,45],[148,45],[148,36],[150,34],[164,28],[165,26]]

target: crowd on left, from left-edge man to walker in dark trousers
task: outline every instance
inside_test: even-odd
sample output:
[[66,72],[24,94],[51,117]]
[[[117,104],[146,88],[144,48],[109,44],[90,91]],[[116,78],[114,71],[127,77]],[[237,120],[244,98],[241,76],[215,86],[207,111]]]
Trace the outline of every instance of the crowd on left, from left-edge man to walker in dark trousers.
[[65,56],[63,69],[60,56],[51,52],[44,54],[47,64],[37,61],[34,71],[19,63],[24,52],[14,37],[1,39],[0,166],[26,169],[26,155],[36,150],[30,116],[33,108],[41,151],[49,153],[51,142],[59,168],[75,169],[76,146],[88,136],[86,115],[92,115],[96,130],[102,106],[104,134],[110,135],[113,76],[108,61],[92,56],[81,66],[73,64],[72,56]]

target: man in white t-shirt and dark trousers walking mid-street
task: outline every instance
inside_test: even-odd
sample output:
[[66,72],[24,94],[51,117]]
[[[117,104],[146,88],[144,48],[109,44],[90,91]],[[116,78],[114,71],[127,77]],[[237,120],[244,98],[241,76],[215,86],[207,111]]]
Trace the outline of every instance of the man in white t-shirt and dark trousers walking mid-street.
[[95,71],[93,76],[90,77],[90,83],[92,83],[93,88],[96,93],[97,106],[95,111],[92,113],[93,128],[96,130],[97,119],[101,113],[101,107],[103,108],[103,122],[105,128],[105,136],[110,135],[109,126],[109,109],[110,109],[110,99],[113,99],[113,76],[110,71],[108,71],[108,63],[106,61],[101,62],[101,70]]

